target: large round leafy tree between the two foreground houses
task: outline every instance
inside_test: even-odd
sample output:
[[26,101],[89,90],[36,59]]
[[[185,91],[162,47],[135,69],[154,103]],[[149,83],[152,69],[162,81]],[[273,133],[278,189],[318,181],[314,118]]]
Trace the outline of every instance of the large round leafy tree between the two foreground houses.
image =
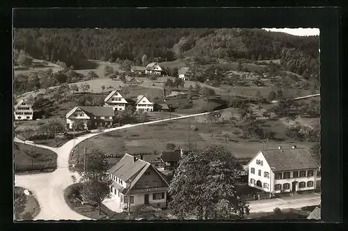
[[235,157],[220,146],[189,152],[175,171],[168,207],[179,218],[235,220],[248,214],[235,182],[241,174]]

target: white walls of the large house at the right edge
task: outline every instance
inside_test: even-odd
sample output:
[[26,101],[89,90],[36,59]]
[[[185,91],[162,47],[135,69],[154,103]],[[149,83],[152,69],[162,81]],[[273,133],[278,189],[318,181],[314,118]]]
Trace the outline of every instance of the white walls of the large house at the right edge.
[[274,171],[262,152],[248,164],[248,185],[270,193],[287,193],[317,188],[317,169]]

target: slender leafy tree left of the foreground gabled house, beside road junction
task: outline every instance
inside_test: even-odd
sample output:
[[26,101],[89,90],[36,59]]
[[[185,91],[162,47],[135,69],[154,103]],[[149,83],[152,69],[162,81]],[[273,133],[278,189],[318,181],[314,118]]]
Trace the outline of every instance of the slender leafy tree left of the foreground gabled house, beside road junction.
[[[80,182],[83,183],[81,195],[85,200],[97,203],[99,213],[102,201],[110,197],[111,177],[107,173],[106,155],[99,150],[89,150],[83,168],[79,168]],[[81,166],[80,166],[81,167]]]

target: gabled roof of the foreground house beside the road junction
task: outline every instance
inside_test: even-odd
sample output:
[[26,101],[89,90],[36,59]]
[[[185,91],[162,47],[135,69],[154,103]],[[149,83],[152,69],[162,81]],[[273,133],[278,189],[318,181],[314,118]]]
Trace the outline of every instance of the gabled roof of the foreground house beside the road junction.
[[[134,161],[134,157],[128,153],[126,153],[120,161],[112,166],[108,173],[111,173],[113,175],[116,175],[116,177],[120,178],[120,180],[127,182],[128,180],[132,180],[130,188],[138,182],[140,177],[145,173],[148,168],[152,168],[155,170],[155,172],[166,182],[166,184],[169,186],[166,179],[159,174],[159,171],[156,168],[153,168],[150,163],[147,161],[143,161],[141,159],[136,159]],[[120,187],[120,186],[118,186]],[[121,187],[122,188],[122,187]],[[123,190],[124,188],[122,188]]]

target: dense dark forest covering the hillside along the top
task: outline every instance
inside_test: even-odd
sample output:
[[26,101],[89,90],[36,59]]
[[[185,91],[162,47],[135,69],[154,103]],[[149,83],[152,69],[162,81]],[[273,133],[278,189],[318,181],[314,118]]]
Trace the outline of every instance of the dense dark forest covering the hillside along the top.
[[[91,60],[173,61],[183,56],[281,59],[286,70],[319,73],[319,36],[262,29],[15,29],[15,49],[87,69]],[[294,60],[299,58],[299,60]],[[92,68],[88,68],[92,69]]]

